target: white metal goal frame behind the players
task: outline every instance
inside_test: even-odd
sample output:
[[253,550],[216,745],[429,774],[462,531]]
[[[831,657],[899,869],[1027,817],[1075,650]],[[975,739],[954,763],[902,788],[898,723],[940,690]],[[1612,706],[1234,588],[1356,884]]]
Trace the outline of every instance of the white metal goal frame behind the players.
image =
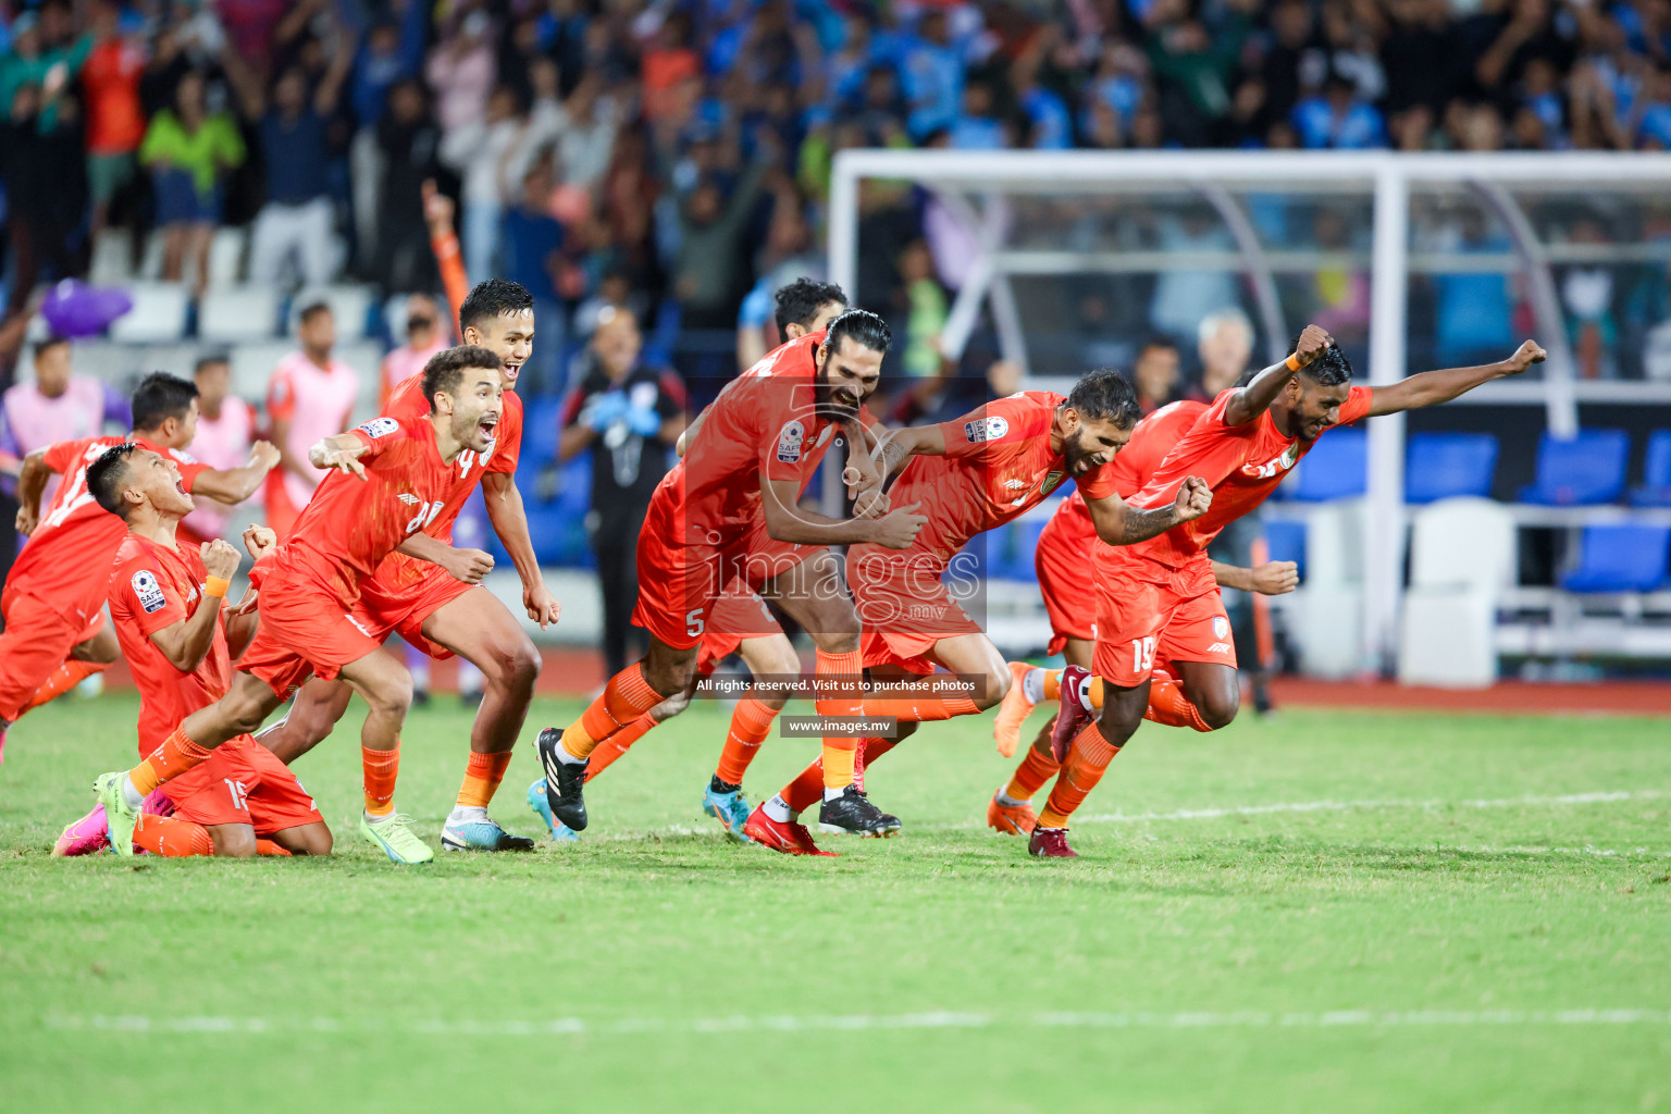
[[[864,304],[879,291],[861,289],[861,192],[866,180],[896,180],[922,187],[946,214],[964,225],[973,249],[956,279],[942,349],[961,356],[989,311],[1003,357],[1028,376],[1029,336],[1018,311],[1018,282],[1064,272],[1201,272],[1222,269],[1245,279],[1253,321],[1267,357],[1283,354],[1300,321],[1285,321],[1280,276],[1313,272],[1333,259],[1327,251],[1292,251],[1272,244],[1253,227],[1250,194],[1352,197],[1370,207],[1369,254],[1369,381],[1385,384],[1420,367],[1407,366],[1407,307],[1412,276],[1412,199],[1467,194],[1489,210],[1506,235],[1502,272],[1519,284],[1531,307],[1534,336],[1549,349],[1544,374],[1527,382],[1499,382],[1472,401],[1541,401],[1547,428],[1557,436],[1577,428],[1579,403],[1664,403],[1671,382],[1579,381],[1556,286],[1556,264],[1671,259],[1671,244],[1551,244],[1529,215],[1527,195],[1628,195],[1644,204],[1671,199],[1671,154],[1395,154],[1395,152],[954,152],[842,150],[834,162],[829,200],[830,279]],[[1131,197],[1205,202],[1218,214],[1223,251],[1181,252],[1071,244],[1016,246],[1009,242],[1018,199],[1074,197],[1121,204]],[[1338,252],[1337,252],[1338,256]],[[1484,257],[1455,256],[1425,262],[1434,274],[1481,269]],[[1141,337],[1126,337],[1138,341]],[[1507,356],[1507,351],[1504,351]],[[1059,369],[1066,374],[1069,369]],[[1404,419],[1369,423],[1369,516],[1364,536],[1362,671],[1389,673],[1395,660],[1404,571]]]

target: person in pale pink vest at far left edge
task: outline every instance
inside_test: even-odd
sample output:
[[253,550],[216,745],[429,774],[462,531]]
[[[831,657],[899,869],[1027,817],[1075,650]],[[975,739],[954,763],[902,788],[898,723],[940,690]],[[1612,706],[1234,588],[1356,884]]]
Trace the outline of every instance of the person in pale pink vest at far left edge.
[[[105,382],[77,376],[70,342],[52,336],[35,344],[35,381],[0,396],[0,454],[25,458],[58,441],[97,438],[105,423],[127,429],[127,399]],[[52,503],[58,476],[47,481],[40,508]]]

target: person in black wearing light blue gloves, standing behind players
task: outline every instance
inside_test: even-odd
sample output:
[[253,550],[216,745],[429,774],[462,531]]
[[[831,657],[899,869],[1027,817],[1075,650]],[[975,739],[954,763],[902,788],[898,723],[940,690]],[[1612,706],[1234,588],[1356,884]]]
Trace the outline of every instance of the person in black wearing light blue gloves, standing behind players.
[[[638,598],[637,546],[650,494],[668,469],[668,451],[685,429],[685,386],[670,371],[640,362],[643,337],[630,311],[600,316],[587,369],[563,406],[556,456],[592,451],[592,513],[603,596],[603,658],[627,665],[632,610]],[[637,638],[642,645],[642,635]]]

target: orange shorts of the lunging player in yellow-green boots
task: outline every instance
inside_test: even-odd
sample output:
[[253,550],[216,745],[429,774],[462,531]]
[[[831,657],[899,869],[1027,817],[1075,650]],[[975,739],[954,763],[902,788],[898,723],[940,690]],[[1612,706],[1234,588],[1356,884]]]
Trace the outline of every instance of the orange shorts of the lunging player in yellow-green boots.
[[306,573],[257,565],[251,580],[261,591],[261,630],[237,668],[259,676],[282,700],[309,676],[334,681],[344,665],[383,646],[363,618],[346,613],[334,595]]

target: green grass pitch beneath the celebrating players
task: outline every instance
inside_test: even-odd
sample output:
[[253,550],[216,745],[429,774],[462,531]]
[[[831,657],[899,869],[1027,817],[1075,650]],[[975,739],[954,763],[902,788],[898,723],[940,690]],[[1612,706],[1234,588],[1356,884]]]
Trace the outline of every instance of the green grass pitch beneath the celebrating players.
[[[871,775],[904,832],[812,860],[700,815],[698,703],[593,783],[583,843],[510,857],[439,850],[443,700],[396,798],[431,867],[354,832],[353,723],[297,763],[328,862],[50,858],[134,710],[58,701],[0,765],[0,1111],[1671,1109],[1663,720],[1146,725],[1078,862],[983,827],[989,718],[929,725]],[[530,742],[493,812],[533,835]],[[770,740],[750,797],[810,755]],[[1547,800],[1591,792],[1628,797]]]

